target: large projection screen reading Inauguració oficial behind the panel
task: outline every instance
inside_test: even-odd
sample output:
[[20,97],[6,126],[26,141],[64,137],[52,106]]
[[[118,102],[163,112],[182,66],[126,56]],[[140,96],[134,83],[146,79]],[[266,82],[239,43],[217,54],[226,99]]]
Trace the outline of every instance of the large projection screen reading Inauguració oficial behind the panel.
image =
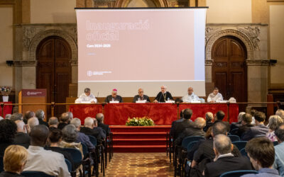
[[138,88],[173,96],[192,86],[205,96],[204,40],[207,8],[76,8],[78,95],[112,89],[132,97]]

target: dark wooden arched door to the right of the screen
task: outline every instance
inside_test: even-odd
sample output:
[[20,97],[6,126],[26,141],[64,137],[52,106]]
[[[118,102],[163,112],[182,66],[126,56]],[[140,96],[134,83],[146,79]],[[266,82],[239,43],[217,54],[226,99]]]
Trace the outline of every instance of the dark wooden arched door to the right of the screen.
[[[212,82],[224,99],[247,101],[246,47],[239,38],[224,36],[212,47]],[[243,110],[243,108],[241,108]]]

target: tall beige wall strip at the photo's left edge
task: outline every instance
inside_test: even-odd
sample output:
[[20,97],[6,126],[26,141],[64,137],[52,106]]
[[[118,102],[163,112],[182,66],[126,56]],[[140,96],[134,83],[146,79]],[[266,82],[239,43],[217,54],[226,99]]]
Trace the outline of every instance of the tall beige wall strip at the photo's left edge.
[[6,60],[13,60],[13,7],[0,6],[0,86],[13,86],[13,67]]

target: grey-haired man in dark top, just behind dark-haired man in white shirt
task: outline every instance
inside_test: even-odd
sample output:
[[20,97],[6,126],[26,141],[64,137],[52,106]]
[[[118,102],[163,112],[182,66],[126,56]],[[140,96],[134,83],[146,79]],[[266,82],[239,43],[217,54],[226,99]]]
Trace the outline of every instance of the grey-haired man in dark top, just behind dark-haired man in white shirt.
[[25,123],[23,120],[16,120],[15,123],[17,125],[17,133],[13,139],[13,144],[18,144],[28,149],[31,144],[31,138],[27,134]]

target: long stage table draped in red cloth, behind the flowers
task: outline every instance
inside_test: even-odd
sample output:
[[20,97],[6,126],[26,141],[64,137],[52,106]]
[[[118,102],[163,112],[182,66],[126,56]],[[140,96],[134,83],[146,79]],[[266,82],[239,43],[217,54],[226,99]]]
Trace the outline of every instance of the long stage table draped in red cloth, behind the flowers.
[[[125,125],[128,118],[152,118],[155,125],[171,125],[177,120],[179,111],[185,108],[192,109],[192,120],[205,117],[205,113],[217,113],[219,110],[226,114],[224,121],[237,122],[239,105],[236,103],[108,103],[108,104],[75,104],[69,110],[74,118],[95,118],[97,113],[104,113],[104,123],[107,125]],[[228,114],[229,113],[229,114]]]

